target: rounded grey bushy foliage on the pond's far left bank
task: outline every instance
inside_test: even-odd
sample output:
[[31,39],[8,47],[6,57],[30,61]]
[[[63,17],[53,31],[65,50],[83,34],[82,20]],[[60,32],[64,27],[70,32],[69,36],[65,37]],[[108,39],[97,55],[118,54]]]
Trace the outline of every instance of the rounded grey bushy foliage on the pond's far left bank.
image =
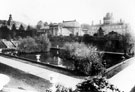
[[49,51],[51,43],[46,35],[39,37],[26,37],[20,40],[18,45],[18,50],[25,53],[34,53],[34,52],[46,52]]

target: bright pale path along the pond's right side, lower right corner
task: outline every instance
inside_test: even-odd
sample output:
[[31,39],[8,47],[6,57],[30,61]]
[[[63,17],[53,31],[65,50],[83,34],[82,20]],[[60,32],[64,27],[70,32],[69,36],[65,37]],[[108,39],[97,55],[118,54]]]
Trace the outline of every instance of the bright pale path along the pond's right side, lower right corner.
[[128,60],[130,60],[132,63],[130,63],[128,67],[109,79],[111,84],[115,85],[124,92],[130,92],[131,89],[135,86],[135,57]]

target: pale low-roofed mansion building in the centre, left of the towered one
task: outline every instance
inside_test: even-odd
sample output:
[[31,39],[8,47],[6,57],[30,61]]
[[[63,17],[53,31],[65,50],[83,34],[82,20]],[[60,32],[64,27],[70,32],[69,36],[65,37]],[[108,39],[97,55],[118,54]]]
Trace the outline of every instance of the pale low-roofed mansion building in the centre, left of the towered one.
[[76,20],[63,21],[62,23],[50,23],[41,27],[38,32],[47,33],[52,36],[83,35],[81,25]]

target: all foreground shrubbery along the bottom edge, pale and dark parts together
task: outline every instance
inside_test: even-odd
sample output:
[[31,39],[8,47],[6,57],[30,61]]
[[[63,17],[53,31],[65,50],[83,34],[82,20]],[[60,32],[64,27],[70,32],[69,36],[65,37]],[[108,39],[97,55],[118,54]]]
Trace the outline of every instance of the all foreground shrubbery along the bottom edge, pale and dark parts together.
[[[52,92],[51,89],[46,92]],[[107,81],[105,77],[97,76],[88,78],[76,85],[76,89],[67,88],[63,85],[56,85],[53,92],[123,92]]]

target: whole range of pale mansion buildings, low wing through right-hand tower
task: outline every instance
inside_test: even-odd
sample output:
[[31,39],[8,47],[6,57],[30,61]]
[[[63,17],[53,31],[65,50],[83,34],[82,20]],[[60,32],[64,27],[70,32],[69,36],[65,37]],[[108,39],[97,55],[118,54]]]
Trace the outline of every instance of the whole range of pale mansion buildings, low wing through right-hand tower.
[[89,34],[91,36],[98,33],[98,30],[103,30],[103,35],[106,35],[110,32],[117,32],[124,35],[129,31],[129,25],[122,21],[119,22],[113,21],[113,14],[107,13],[103,17],[103,23],[91,24],[89,28],[83,28],[76,20],[63,21],[61,23],[50,23],[41,27],[38,32],[44,32],[52,36],[83,36],[84,34]]

